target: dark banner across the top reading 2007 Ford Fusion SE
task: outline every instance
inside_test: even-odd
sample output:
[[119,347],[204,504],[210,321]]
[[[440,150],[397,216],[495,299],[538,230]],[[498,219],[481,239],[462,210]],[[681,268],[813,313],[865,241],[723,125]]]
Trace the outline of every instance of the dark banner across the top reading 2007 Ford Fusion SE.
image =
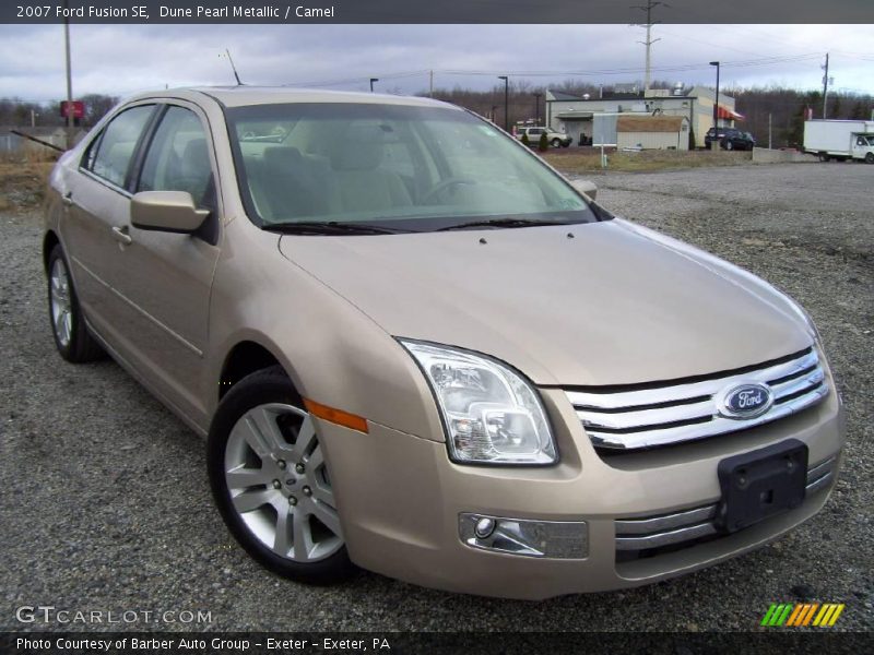
[[[641,23],[648,0],[3,0],[0,23]],[[641,12],[642,10],[642,12]],[[874,23],[871,0],[671,0],[673,24]]]

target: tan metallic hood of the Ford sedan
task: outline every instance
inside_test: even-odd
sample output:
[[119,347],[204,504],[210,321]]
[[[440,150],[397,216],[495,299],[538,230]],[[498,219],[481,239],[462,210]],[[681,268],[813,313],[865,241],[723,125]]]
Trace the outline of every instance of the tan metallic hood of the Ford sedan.
[[538,384],[673,380],[813,342],[771,286],[622,219],[283,236],[280,250],[390,334],[485,353]]

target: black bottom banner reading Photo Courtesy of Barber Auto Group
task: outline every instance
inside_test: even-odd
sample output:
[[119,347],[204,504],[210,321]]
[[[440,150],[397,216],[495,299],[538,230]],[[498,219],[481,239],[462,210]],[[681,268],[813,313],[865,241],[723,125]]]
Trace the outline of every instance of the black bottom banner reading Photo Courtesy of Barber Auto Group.
[[753,655],[872,652],[870,633],[830,629],[760,632],[19,632],[0,633],[3,655]]

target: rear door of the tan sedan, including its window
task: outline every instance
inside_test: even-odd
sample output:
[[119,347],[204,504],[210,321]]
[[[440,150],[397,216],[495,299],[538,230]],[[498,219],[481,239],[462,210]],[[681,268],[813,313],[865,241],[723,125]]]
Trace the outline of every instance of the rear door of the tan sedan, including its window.
[[60,234],[79,300],[94,331],[126,356],[120,331],[128,311],[111,279],[115,253],[123,248],[130,223],[130,176],[134,155],[156,105],[133,105],[118,112],[91,141],[79,167],[66,179]]

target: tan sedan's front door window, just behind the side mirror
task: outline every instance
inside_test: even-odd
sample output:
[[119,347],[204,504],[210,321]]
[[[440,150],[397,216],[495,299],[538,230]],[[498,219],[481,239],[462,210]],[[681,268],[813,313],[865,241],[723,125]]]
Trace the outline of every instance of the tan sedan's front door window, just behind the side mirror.
[[198,116],[170,106],[145,155],[138,191],[187,191],[199,207],[214,209],[206,132]]

